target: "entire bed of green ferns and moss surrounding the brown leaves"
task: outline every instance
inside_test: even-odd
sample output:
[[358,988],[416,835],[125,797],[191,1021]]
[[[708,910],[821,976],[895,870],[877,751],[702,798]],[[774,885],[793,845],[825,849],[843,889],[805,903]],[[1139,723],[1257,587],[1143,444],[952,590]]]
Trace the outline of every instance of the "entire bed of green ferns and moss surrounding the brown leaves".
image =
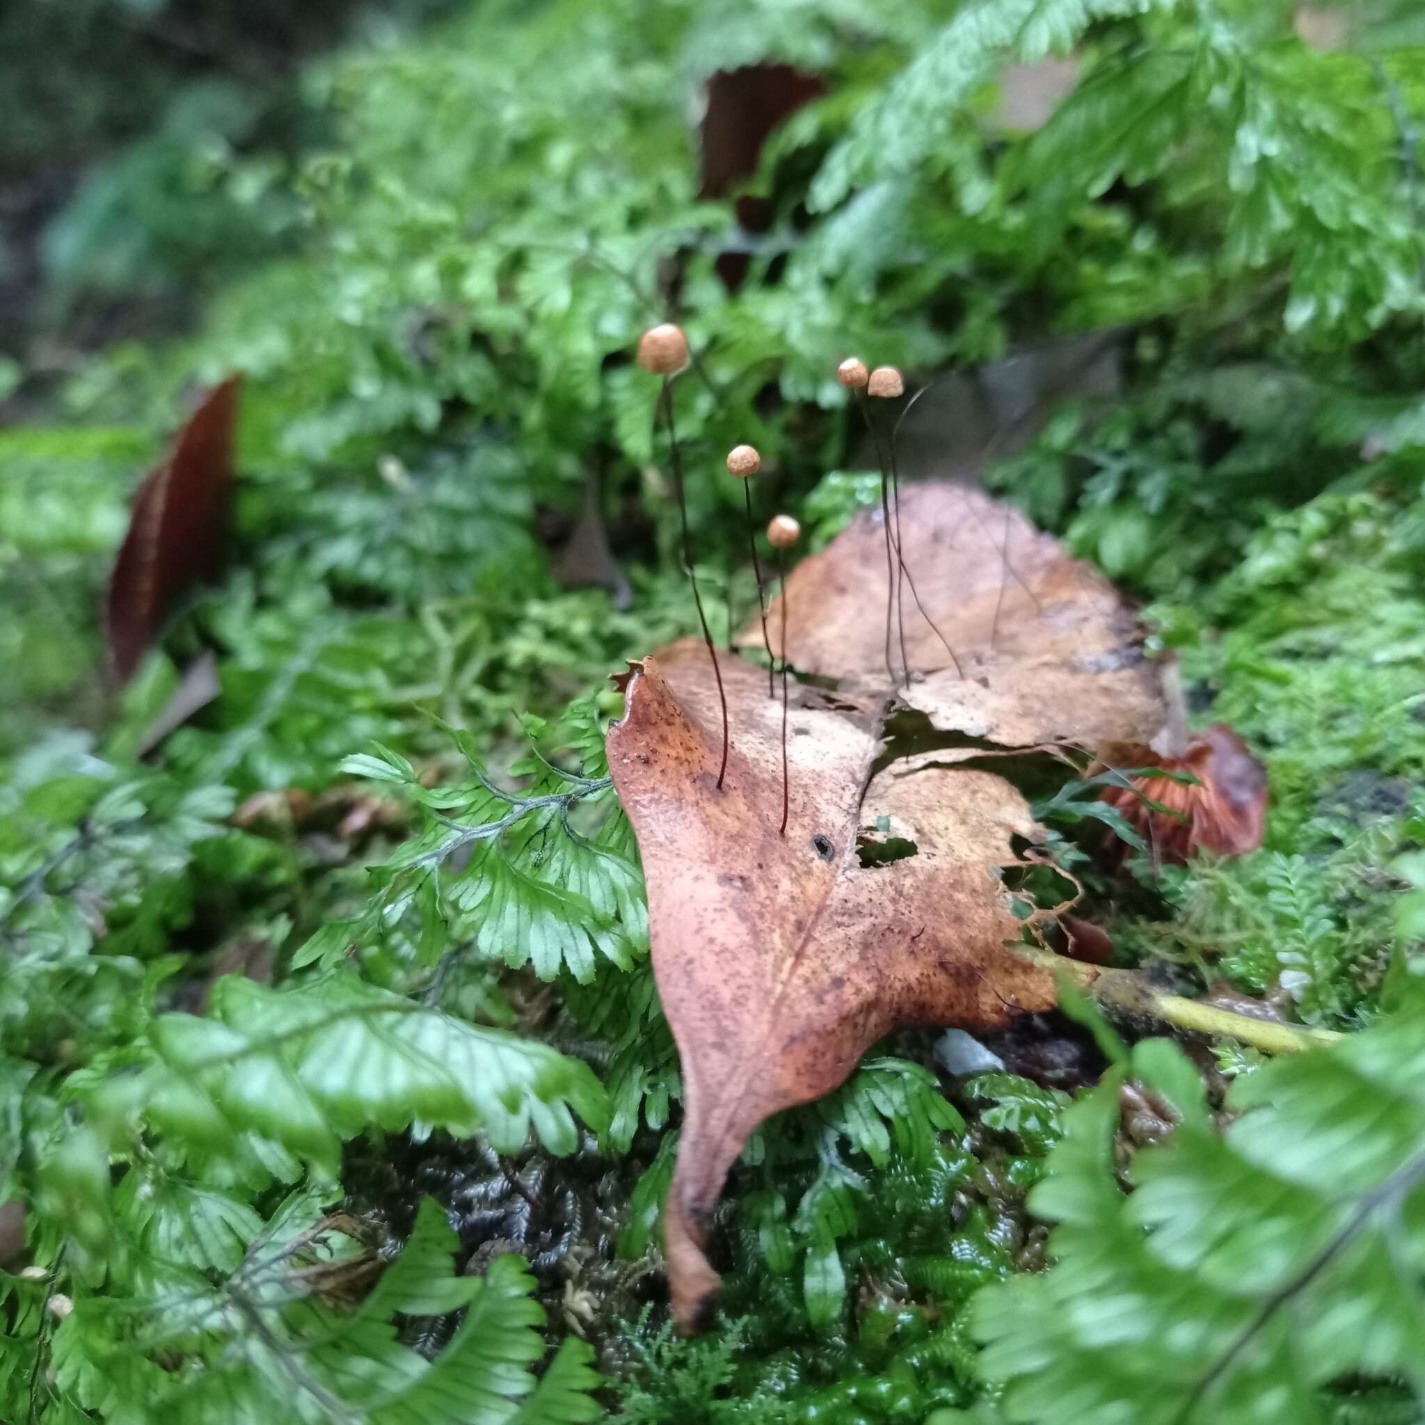
[[[67,161],[100,114],[134,141],[48,227],[41,285],[56,321],[98,294],[212,301],[172,342],[0,359],[0,399],[37,412],[0,437],[0,1203],[24,1204],[30,1271],[0,1277],[0,1415],[596,1416],[587,1348],[564,1340],[536,1384],[533,1280],[502,1257],[455,1277],[435,1208],[376,1280],[389,1251],[339,1208],[342,1156],[366,1140],[409,1206],[410,1140],[564,1153],[581,1123],[628,1198],[601,1240],[656,1270],[681,1080],[601,757],[618,698],[579,694],[691,627],[656,383],[630,361],[675,315],[698,353],[675,415],[700,571],[738,604],[718,634],[751,607],[741,490],[708,473],[730,445],[762,450],[760,490],[812,549],[878,503],[832,375],[849,351],[929,376],[1124,326],[1123,393],[1059,405],[986,479],[1154,600],[1194,715],[1267,764],[1267,845],[1140,858],[1110,885],[1089,848],[1103,822],[1134,844],[1097,799],[1124,774],[1036,788],[1036,809],[1121,956],[1317,1026],[1406,1013],[1295,1064],[1220,1047],[1245,1112],[1224,1137],[1186,1062],[1136,1046],[1180,1126],[1129,1198],[1113,1074],[1067,1112],[1006,1074],[952,1104],[918,1063],[874,1059],[748,1144],[717,1224],[732,1324],[693,1345],[631,1328],[617,1408],[985,1419],[988,1287],[1010,1418],[1113,1419],[1093,1402],[1123,1382],[1124,1418],[1171,1418],[1173,1389],[1371,1204],[1203,1411],[1406,1418],[1414,1297],[1381,1284],[1419,1277],[1418,1194],[1392,1177],[1419,1153],[1425,882],[1411,7],[1358,6],[1318,50],[1297,7],[1245,0],[452,4],[296,87],[145,68],[191,9],[227,33],[217,0],[66,7],[56,66],[86,77]],[[339,7],[238,9],[291,37],[286,60]],[[23,84],[0,164],[57,142],[23,97],[34,13],[0,20],[23,40],[0,43],[0,87],[13,56]],[[110,110],[84,57],[100,26],[135,71]],[[1073,90],[1015,131],[1002,67],[1070,53]],[[688,100],[762,61],[826,94],[740,190],[703,197]],[[764,229],[741,228],[740,192]],[[125,500],[192,385],[229,370],[232,569],[108,701],[94,610]],[[996,450],[1037,419],[1017,402]],[[590,489],[627,610],[553,574],[546,544]],[[162,735],[205,653],[215,695]],[[1036,1183],[1057,1265],[998,1285],[1042,1261]],[[537,1290],[551,1334],[614,1314],[573,1277]],[[433,1362],[400,1344],[452,1312]],[[1298,1318],[1310,1351],[1284,1365]]]

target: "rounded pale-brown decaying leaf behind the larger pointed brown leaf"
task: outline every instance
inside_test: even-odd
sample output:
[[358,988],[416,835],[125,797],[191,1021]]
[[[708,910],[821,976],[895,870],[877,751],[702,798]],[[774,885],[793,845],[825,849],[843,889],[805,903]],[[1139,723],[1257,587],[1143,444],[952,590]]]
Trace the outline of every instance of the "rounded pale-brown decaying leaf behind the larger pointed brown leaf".
[[[903,591],[912,678],[902,697],[936,728],[1002,747],[1121,742],[1183,754],[1173,664],[1149,661],[1137,616],[1097,570],[1017,510],[960,484],[905,487],[901,532],[925,608]],[[865,510],[787,581],[792,667],[842,685],[888,687],[885,596],[881,510]],[[767,621],[779,654],[778,603]],[[761,623],[748,624],[738,646],[761,638]],[[896,636],[892,663],[899,673]]]

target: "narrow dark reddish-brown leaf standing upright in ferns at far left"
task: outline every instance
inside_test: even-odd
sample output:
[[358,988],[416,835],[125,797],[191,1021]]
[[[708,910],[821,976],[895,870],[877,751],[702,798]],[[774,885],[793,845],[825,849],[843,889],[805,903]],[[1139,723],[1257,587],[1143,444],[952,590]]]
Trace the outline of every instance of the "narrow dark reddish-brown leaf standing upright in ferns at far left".
[[174,600],[221,566],[239,382],[229,376],[208,392],[172,455],[134,496],[104,610],[115,683],[133,677]]

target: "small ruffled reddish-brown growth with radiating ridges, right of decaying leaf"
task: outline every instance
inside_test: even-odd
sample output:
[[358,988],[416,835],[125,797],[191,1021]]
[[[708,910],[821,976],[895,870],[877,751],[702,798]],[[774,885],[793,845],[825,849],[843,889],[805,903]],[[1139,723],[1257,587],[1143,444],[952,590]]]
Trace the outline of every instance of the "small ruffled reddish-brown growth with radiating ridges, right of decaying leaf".
[[[1193,737],[1186,757],[1160,757],[1157,765],[1191,772],[1197,785],[1140,777],[1133,791],[1110,787],[1103,794],[1137,826],[1154,859],[1181,864],[1197,851],[1241,856],[1261,845],[1267,772],[1230,727],[1218,722]],[[1154,811],[1143,798],[1168,811]],[[1129,846],[1113,838],[1113,849],[1123,855]]]

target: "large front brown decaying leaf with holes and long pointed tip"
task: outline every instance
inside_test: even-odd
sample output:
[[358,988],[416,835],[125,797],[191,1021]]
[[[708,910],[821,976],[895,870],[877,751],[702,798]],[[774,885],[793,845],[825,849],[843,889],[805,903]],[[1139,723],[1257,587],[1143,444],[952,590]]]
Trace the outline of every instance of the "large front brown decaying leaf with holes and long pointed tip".
[[[734,731],[721,791],[717,688],[695,640],[634,665],[608,732],[683,1059],[664,1234],[685,1330],[717,1290],[704,1233],[758,1123],[836,1087],[896,1025],[983,1029],[1054,999],[1052,976],[1005,948],[1020,926],[998,871],[1016,859],[1010,839],[1036,831],[1009,782],[926,758],[872,775],[889,698],[802,687],[781,836],[781,703],[748,664],[724,665],[722,681]],[[868,841],[913,854],[862,865]]]

